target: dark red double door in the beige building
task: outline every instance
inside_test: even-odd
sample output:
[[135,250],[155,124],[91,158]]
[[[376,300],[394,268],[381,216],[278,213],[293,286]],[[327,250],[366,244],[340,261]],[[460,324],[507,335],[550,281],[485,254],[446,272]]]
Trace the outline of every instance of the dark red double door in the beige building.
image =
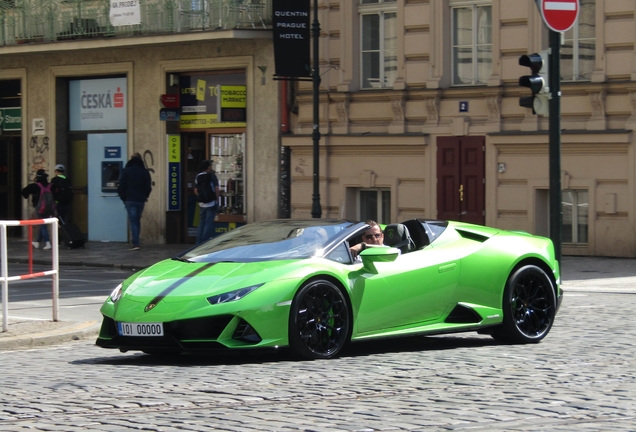
[[437,218],[483,225],[485,216],[484,137],[437,139]]

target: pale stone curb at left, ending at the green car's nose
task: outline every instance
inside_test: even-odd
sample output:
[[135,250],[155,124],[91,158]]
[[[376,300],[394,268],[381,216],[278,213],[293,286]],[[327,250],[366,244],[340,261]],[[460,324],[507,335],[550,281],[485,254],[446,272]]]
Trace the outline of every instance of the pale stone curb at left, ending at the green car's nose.
[[16,348],[35,348],[69,341],[96,338],[99,334],[100,326],[101,323],[97,321],[87,321],[83,323],[71,323],[69,326],[51,331],[4,337],[0,338],[0,351],[13,350]]

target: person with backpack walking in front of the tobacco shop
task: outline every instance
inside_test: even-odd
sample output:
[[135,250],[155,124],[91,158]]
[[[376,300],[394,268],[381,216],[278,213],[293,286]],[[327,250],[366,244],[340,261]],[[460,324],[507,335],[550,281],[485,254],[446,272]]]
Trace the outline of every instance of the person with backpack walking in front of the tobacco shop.
[[204,160],[200,172],[194,179],[199,202],[199,227],[197,228],[197,244],[210,240],[214,236],[214,218],[219,196],[219,179],[212,171],[212,161]]

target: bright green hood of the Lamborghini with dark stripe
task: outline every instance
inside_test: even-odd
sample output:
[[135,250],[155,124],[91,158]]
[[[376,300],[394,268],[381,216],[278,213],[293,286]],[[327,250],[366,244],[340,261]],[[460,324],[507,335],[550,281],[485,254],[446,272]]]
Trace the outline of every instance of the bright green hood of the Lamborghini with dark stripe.
[[296,268],[294,261],[256,263],[191,263],[166,260],[124,283],[123,298],[147,302],[158,296],[166,303],[209,297],[279,278]]

